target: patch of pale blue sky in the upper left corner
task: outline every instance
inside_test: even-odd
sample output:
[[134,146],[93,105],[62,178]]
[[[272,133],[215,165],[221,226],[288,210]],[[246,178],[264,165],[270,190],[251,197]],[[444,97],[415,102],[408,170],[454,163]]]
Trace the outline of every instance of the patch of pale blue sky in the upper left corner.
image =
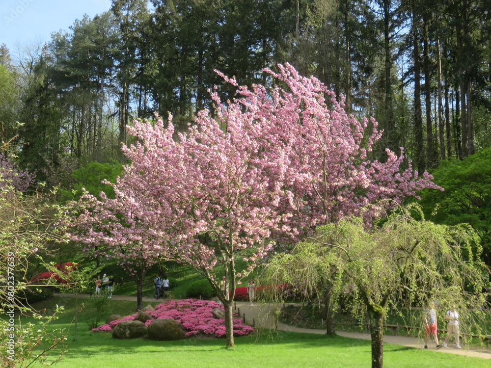
[[68,31],[84,14],[91,18],[104,13],[110,0],[0,0],[0,44],[12,56],[21,47],[45,43],[60,29]]

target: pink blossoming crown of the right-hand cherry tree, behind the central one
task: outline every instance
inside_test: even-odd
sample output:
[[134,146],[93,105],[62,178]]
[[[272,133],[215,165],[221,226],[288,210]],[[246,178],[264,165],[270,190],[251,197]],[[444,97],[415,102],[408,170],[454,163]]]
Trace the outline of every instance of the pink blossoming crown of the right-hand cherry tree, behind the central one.
[[385,162],[371,159],[382,135],[373,118],[356,120],[346,113],[344,98],[337,101],[318,79],[300,76],[289,64],[278,69],[267,71],[277,80],[273,90],[263,85],[239,87],[242,98],[229,110],[238,114],[246,108],[243,114],[269,122],[270,140],[264,150],[275,147],[280,152],[277,146],[284,147],[288,195],[280,203],[283,211],[293,210],[287,224],[300,237],[347,215],[363,213],[370,225],[419,190],[441,189],[427,172],[418,177],[410,160],[402,169],[404,156],[386,150]]

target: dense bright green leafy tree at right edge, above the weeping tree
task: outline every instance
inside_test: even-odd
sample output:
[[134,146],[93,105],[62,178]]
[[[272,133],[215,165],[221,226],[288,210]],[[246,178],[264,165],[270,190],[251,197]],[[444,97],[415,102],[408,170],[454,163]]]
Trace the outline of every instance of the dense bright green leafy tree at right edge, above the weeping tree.
[[482,259],[491,266],[491,148],[444,161],[433,176],[445,191],[421,192],[425,214],[438,224],[470,224],[481,238]]

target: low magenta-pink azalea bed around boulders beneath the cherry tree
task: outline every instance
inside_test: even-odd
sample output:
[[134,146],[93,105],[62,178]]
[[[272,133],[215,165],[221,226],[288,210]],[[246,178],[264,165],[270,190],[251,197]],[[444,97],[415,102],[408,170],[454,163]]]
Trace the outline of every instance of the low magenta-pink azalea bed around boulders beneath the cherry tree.
[[[183,299],[169,300],[155,307],[155,311],[148,312],[154,319],[172,318],[180,322],[186,332],[186,337],[191,337],[197,334],[215,335],[218,338],[225,337],[224,319],[217,319],[213,316],[213,309],[223,307],[214,301],[198,300],[198,299]],[[128,315],[126,317],[116,319],[110,324],[104,324],[92,331],[111,331],[118,323],[123,321],[132,321],[138,314]],[[149,325],[154,321],[149,319],[145,325]],[[254,331],[249,325],[243,323],[242,319],[234,318],[234,336],[246,336]]]

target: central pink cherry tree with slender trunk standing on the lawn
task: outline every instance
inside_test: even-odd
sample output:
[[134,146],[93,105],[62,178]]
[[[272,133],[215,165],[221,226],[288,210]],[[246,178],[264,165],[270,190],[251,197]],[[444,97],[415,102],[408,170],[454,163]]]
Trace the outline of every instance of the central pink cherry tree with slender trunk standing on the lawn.
[[[154,226],[167,234],[169,253],[208,278],[224,306],[227,346],[233,347],[235,259],[246,250],[251,264],[264,257],[272,230],[280,231],[289,214],[278,207],[285,195],[284,170],[278,170],[285,167],[283,147],[264,154],[269,123],[231,113],[232,105],[225,108],[215,98],[215,118],[200,112],[177,139],[170,119],[166,127],[162,120],[135,122],[129,132],[137,143],[124,150],[132,164],[121,183],[152,198]],[[220,291],[222,275],[226,293]]]

